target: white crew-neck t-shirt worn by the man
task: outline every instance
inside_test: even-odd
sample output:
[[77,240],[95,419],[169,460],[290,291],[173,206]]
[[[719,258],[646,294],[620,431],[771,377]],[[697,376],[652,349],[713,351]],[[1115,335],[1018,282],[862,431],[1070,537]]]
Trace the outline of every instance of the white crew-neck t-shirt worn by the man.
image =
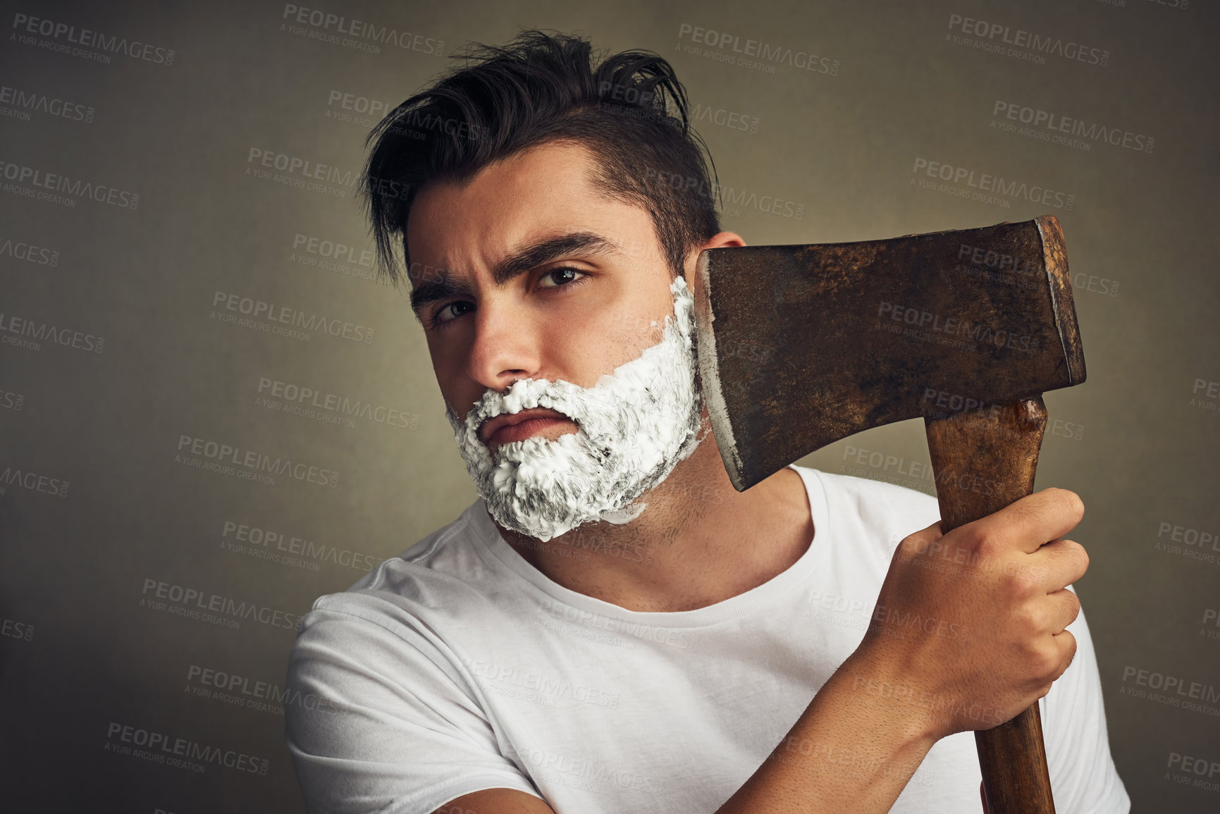
[[[859,646],[898,542],[939,517],[930,495],[794,469],[813,544],[706,608],[639,613],[564,588],[482,499],[318,598],[288,670],[321,699],[287,718],[310,810],[431,814],[503,787],[558,814],[715,812]],[[1068,630],[1076,658],[1039,702],[1057,809],[1126,813],[1083,614]],[[953,735],[891,810],[978,814],[980,780],[972,733]]]

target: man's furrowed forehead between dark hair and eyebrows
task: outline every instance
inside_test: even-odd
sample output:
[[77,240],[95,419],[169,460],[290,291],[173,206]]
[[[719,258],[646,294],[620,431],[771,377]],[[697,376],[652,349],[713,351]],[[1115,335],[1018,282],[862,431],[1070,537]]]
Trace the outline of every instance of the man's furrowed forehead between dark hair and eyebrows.
[[648,211],[598,185],[598,170],[582,144],[543,144],[488,165],[467,183],[428,184],[406,225],[412,266],[487,272],[523,245],[575,232],[625,249],[654,240]]

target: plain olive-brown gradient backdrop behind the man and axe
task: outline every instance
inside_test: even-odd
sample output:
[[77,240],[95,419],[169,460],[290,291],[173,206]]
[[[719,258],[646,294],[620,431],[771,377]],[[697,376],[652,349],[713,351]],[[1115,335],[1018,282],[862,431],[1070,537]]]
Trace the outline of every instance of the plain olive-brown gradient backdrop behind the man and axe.
[[[725,228],[750,243],[1057,215],[1081,286],[1088,381],[1047,395],[1052,420],[1065,423],[1046,438],[1038,487],[1075,489],[1088,506],[1072,535],[1092,556],[1078,593],[1133,810],[1214,812],[1220,792],[1175,782],[1183,773],[1168,762],[1171,753],[1220,762],[1220,718],[1120,692],[1135,688],[1126,668],[1220,687],[1220,639],[1207,635],[1220,627],[1203,625],[1220,609],[1220,550],[1203,552],[1209,563],[1157,546],[1163,522],[1220,531],[1220,412],[1192,404],[1197,380],[1220,381],[1218,20],[1209,4],[1171,4],[299,5],[443,40],[445,54],[471,40],[503,43],[520,27],[659,51],[693,104],[759,120],[756,133],[699,122],[721,182],[804,206],[799,220],[749,206],[726,212]],[[7,185],[0,194],[0,245],[11,240],[0,253],[4,319],[105,338],[100,354],[46,340],[38,350],[0,345],[0,471],[71,482],[66,497],[0,484],[0,616],[10,631],[33,626],[29,641],[0,636],[0,808],[301,812],[283,718],[198,697],[188,682],[196,665],[282,685],[293,631],[160,613],[140,607],[143,587],[160,580],[303,614],[367,569],[315,558],[312,571],[226,550],[226,521],[381,560],[473,499],[405,293],[293,256],[296,234],[368,249],[356,203],[246,175],[251,148],[354,173],[367,127],[327,117],[342,112],[328,106],[331,92],[393,105],[447,59],[294,35],[281,29],[277,2],[2,5],[0,84],[95,113],[92,123],[2,116],[0,160],[140,199],[132,210],[38,201]],[[173,49],[173,63],[116,54],[104,65],[23,44],[12,35],[16,13]],[[1104,49],[1109,65],[1053,55],[1037,65],[955,44],[947,40],[954,13]],[[683,23],[837,60],[837,76],[684,52]],[[1091,142],[1085,151],[1000,132],[991,127],[997,100],[1152,137],[1154,149]],[[1047,187],[1074,205],[1005,198],[1002,207],[924,189],[913,184],[926,178],[913,172],[916,159]],[[17,243],[60,251],[57,265],[16,259]],[[1089,276],[1105,290],[1118,281],[1116,294],[1088,290]],[[226,325],[210,317],[217,290],[371,326],[375,339],[315,332],[299,342]],[[417,428],[267,409],[256,403],[261,377],[403,410],[420,416]],[[174,460],[183,434],[338,470],[338,486],[284,476],[268,486],[189,467]],[[858,459],[848,447],[867,452]],[[904,471],[926,464],[922,423],[871,431],[803,463],[931,491],[895,466],[858,463],[875,452],[903,459]],[[270,770],[198,774],[113,754],[111,722],[265,758]]]

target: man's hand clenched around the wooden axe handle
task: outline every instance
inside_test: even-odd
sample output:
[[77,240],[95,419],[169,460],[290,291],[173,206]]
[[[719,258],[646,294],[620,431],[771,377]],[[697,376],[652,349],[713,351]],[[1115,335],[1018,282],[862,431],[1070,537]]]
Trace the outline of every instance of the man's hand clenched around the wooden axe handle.
[[[1043,489],[975,522],[903,539],[872,624],[844,666],[871,704],[893,704],[933,737],[998,726],[1049,692],[1076,653],[1066,589],[1088,567],[1061,535],[1083,516]],[[1050,541],[1050,542],[1048,542]]]

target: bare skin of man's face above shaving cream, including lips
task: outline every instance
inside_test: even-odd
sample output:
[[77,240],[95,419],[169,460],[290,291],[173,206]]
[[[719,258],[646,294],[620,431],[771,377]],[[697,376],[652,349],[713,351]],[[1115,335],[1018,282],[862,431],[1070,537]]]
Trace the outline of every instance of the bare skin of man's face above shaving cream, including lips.
[[[672,314],[673,298],[653,218],[594,187],[593,166],[583,146],[547,144],[465,187],[438,183],[416,198],[412,288],[444,277],[465,289],[417,309],[440,392],[459,416],[518,378],[592,387],[660,338],[649,326]],[[506,264],[511,276],[498,283]],[[494,450],[527,433],[575,431],[556,417],[482,439]]]

